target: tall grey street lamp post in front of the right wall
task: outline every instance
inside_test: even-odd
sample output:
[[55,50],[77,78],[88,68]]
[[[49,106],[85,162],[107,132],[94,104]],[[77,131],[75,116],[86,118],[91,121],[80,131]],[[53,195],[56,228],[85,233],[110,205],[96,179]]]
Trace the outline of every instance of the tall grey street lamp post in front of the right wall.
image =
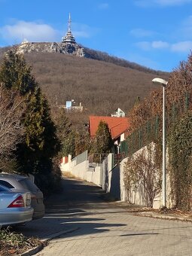
[[163,150],[163,161],[162,161],[162,206],[166,207],[166,127],[165,127],[165,87],[168,84],[168,81],[162,78],[154,78],[152,80],[154,84],[159,84],[163,86],[163,142],[162,142],[162,150]]

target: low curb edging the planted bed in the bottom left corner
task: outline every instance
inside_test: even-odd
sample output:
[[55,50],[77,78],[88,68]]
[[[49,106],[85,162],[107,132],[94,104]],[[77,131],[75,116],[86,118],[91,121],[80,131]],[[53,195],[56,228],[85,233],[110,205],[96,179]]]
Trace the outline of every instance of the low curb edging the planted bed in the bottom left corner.
[[[79,229],[79,227],[75,227],[75,228],[72,228],[72,229],[69,229],[69,230],[63,230],[63,231],[59,231],[59,232],[53,233],[50,236],[47,236],[45,239],[41,239],[41,242],[48,242],[48,241],[50,241],[51,239],[53,239],[53,238],[55,238],[57,236],[61,236],[61,235],[66,234],[66,233],[72,233],[72,232],[74,232],[74,231],[76,231],[78,229]],[[41,251],[43,248],[44,248],[43,244],[38,245],[35,248],[31,248],[28,251],[23,252],[22,254],[20,254],[20,256],[31,256],[31,255],[34,255],[34,254],[38,253],[39,251]]]

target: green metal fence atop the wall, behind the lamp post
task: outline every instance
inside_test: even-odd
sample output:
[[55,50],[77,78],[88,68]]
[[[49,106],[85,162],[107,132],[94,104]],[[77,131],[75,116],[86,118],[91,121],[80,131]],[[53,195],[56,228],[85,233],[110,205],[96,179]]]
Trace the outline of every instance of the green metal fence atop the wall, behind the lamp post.
[[[181,117],[186,111],[192,109],[192,97],[189,93],[174,102],[171,107],[166,108],[166,133],[169,134],[170,128],[175,121]],[[140,148],[148,145],[150,142],[161,141],[162,139],[162,117],[156,116],[151,120],[147,120],[145,124],[130,134],[123,142],[120,142],[121,159],[130,154],[135,153]]]

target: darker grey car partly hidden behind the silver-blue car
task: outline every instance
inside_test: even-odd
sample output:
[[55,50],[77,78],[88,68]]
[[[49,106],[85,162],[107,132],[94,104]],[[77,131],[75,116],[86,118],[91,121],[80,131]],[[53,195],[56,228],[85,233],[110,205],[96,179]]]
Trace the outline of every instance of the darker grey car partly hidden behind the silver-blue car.
[[32,182],[29,177],[16,174],[0,174],[0,184],[8,187],[12,191],[30,191],[32,198],[32,208],[34,213],[32,218],[42,218],[44,216],[44,196],[41,190]]

